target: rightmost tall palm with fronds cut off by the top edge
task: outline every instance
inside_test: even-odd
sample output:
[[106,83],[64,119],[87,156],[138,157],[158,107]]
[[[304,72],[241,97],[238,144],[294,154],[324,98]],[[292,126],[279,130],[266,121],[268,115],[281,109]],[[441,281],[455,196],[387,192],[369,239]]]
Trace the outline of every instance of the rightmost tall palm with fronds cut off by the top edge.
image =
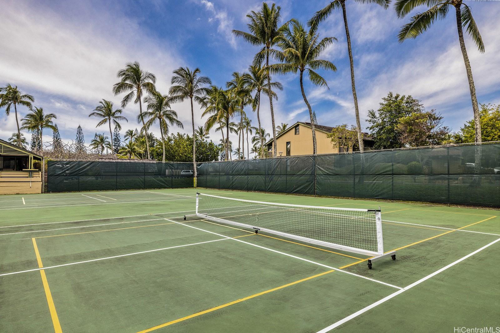
[[[399,42],[403,42],[409,38],[416,38],[419,34],[426,31],[430,24],[437,18],[442,19],[448,13],[449,8],[455,7],[456,28],[458,30],[458,41],[462,51],[463,62],[470,90],[470,99],[472,100],[472,110],[474,112],[474,129],[475,142],[481,142],[481,123],[479,115],[479,107],[477,106],[477,97],[475,95],[474,79],[472,78],[472,69],[463,40],[462,27],[466,27],[466,31],[470,38],[474,41],[479,52],[484,52],[484,44],[482,42],[479,29],[472,17],[470,7],[462,0],[443,0],[443,1],[426,1],[426,0],[396,0],[394,9],[399,18],[406,16],[413,8],[419,5],[431,5],[429,9],[422,13],[417,13],[411,17],[409,23],[403,25],[397,35]],[[462,7],[463,5],[463,7]],[[476,161],[477,162],[477,161]]]

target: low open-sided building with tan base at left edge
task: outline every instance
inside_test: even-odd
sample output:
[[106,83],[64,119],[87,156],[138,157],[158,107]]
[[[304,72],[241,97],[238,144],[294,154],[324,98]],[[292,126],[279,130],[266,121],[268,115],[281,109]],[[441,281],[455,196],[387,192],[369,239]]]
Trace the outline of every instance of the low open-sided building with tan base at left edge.
[[0,139],[0,194],[41,193],[41,172],[33,162],[42,157]]

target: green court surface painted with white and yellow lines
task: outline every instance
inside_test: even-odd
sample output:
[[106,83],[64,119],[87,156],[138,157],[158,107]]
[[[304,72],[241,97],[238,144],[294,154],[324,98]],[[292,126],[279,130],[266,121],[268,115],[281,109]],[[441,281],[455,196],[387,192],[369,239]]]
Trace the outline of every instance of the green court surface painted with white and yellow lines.
[[[196,191],[380,206],[396,260],[184,220]],[[5,195],[0,217],[2,333],[500,327],[498,210],[198,188]]]

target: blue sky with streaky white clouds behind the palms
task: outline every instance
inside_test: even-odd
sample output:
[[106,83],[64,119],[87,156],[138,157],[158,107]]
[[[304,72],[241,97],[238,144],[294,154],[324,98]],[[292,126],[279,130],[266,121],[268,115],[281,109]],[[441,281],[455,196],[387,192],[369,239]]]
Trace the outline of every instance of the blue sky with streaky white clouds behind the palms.
[[[500,1],[464,1],[471,6],[482,34],[486,52],[479,53],[466,37],[472,72],[480,103],[500,103]],[[268,2],[269,4],[271,2]],[[283,20],[295,17],[305,22],[327,1],[276,1]],[[88,114],[102,98],[119,107],[114,96],[116,71],[128,61],[156,74],[157,88],[167,93],[171,72],[179,66],[199,67],[212,83],[225,85],[233,71],[244,71],[257,47],[233,36],[231,29],[245,30],[245,14],[258,10],[260,1],[233,0],[2,0],[0,21],[0,85],[16,84],[35,97],[34,105],[57,115],[64,141],[74,139],[76,127],[83,128],[87,144],[95,132],[96,119]],[[444,124],[458,130],[471,119],[472,109],[453,11],[415,40],[398,43],[399,27],[409,17],[398,19],[393,9],[375,4],[346,1],[352,39],[356,87],[362,126],[369,109],[376,109],[389,91],[412,95],[426,109],[444,116]],[[417,8],[415,12],[422,11]],[[322,72],[329,90],[309,82],[305,92],[319,124],[353,124],[349,62],[340,12],[334,12],[319,29],[321,36],[338,39],[322,58],[332,61],[336,72]],[[275,102],[276,125],[308,121],[300,94],[298,76],[275,76],[282,82]],[[188,132],[188,103],[172,108],[179,113]],[[21,117],[27,112],[20,107]],[[138,105],[129,104],[122,124],[124,132],[136,128]],[[261,120],[270,131],[267,103],[261,106]],[[256,117],[247,113],[256,126]],[[195,106],[195,125],[202,125],[201,110]],[[15,131],[13,114],[0,113],[0,138]],[[51,133],[44,140],[51,140]],[[154,130],[159,135],[159,130]],[[27,133],[26,133],[27,134]],[[27,134],[28,139],[30,136]],[[210,133],[219,140],[219,134]],[[236,137],[232,141],[237,141]]]

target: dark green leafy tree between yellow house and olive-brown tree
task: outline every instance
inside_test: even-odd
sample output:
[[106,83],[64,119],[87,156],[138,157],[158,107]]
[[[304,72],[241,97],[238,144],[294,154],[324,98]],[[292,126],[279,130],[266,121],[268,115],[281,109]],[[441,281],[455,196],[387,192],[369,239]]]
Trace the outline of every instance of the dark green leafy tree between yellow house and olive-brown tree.
[[375,140],[374,149],[394,149],[403,145],[399,139],[400,133],[396,130],[399,119],[415,112],[423,112],[423,105],[418,99],[411,96],[393,94],[389,92],[382,98],[378,110],[368,110],[370,124],[367,128]]

